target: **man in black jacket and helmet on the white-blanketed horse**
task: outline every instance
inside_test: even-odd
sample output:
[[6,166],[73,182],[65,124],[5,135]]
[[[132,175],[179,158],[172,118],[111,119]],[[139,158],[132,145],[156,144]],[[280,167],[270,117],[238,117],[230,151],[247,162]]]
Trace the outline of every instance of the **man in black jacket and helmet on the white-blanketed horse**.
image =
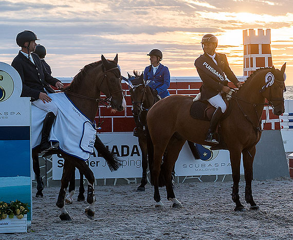
[[45,153],[50,149],[57,149],[58,144],[52,145],[48,142],[48,137],[54,119],[58,113],[58,107],[47,95],[55,91],[50,85],[63,88],[59,79],[52,77],[43,67],[40,57],[33,53],[35,50],[35,41],[39,40],[36,35],[29,30],[20,32],[16,36],[16,44],[21,47],[19,54],[15,56],[11,64],[20,74],[23,89],[21,96],[31,97],[32,104],[40,109],[47,111],[44,119],[41,139],[41,152]]

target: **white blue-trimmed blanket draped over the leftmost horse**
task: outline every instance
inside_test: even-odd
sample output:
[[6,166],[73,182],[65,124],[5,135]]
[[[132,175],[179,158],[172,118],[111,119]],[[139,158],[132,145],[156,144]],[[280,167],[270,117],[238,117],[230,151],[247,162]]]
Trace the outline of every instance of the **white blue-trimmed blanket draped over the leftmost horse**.
[[[87,160],[94,152],[96,126],[77,107],[64,92],[48,94],[58,106],[58,114],[53,123],[50,141],[59,142],[59,148],[69,155]],[[40,145],[44,118],[47,112],[31,106],[32,148]]]

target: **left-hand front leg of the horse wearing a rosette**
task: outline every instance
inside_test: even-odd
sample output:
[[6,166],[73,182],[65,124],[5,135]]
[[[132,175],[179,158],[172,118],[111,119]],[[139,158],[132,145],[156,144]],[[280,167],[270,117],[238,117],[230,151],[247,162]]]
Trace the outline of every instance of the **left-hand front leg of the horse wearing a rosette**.
[[230,151],[230,162],[232,168],[233,188],[232,188],[232,200],[236,204],[234,211],[245,211],[244,206],[240,202],[239,197],[239,181],[240,181],[240,162],[241,152]]

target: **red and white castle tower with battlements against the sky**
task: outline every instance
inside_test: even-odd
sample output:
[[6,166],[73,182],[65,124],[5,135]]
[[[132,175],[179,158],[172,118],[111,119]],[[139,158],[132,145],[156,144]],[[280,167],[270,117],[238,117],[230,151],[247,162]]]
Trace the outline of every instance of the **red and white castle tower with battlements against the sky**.
[[272,58],[270,51],[270,29],[258,29],[258,35],[255,30],[243,30],[243,75],[249,76],[253,71],[272,67]]

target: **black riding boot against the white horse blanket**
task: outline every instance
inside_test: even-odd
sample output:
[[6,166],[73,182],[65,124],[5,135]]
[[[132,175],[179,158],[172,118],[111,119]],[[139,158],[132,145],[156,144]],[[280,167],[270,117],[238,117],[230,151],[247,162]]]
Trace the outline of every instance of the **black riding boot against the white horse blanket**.
[[53,112],[48,112],[43,123],[43,129],[42,129],[42,138],[41,138],[41,144],[40,149],[41,153],[48,152],[51,149],[58,149],[58,143],[55,143],[52,145],[48,142],[48,137],[50,135],[50,131],[54,122],[54,119],[56,118],[55,114]]

